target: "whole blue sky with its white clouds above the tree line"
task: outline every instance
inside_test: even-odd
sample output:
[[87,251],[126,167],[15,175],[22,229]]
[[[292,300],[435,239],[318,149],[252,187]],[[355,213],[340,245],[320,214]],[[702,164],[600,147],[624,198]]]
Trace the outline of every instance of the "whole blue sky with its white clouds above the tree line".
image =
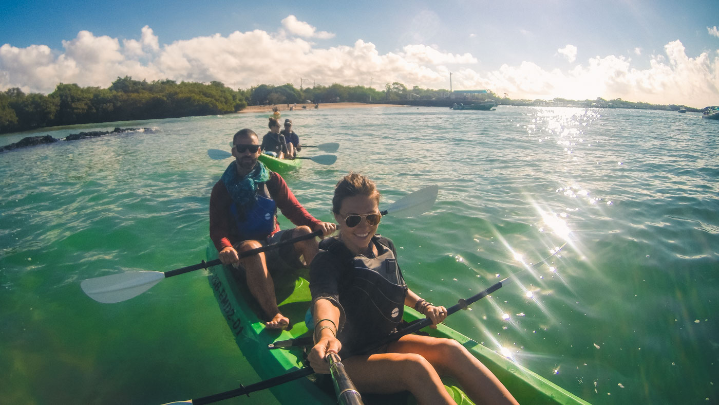
[[[717,1],[2,0],[0,90],[117,76],[719,104]],[[308,82],[305,82],[307,86]]]

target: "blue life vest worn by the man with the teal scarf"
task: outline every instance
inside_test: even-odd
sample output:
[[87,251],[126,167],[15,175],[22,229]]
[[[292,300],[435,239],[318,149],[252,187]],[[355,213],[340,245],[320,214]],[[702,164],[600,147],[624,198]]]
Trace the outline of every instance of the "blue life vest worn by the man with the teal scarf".
[[230,211],[241,240],[265,240],[275,230],[277,203],[269,195],[267,185],[262,183],[262,187],[257,190],[257,201],[252,208],[244,211],[244,216],[240,214],[242,207],[232,201]]

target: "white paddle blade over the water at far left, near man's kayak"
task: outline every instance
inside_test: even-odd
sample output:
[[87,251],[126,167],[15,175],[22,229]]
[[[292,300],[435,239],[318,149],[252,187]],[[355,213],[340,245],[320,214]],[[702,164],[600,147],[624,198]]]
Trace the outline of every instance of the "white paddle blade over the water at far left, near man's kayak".
[[139,296],[162,278],[165,278],[165,273],[160,271],[126,271],[88,278],[80,286],[91,299],[103,304],[115,304]]

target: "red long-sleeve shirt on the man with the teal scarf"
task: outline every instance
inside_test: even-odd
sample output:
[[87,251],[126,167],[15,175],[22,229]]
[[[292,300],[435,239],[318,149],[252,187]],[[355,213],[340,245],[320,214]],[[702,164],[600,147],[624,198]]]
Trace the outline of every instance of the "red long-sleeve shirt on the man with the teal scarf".
[[[316,224],[321,224],[319,219],[309,214],[297,201],[295,195],[292,194],[287,183],[285,183],[285,179],[278,173],[270,172],[270,180],[266,184],[267,190],[270,191],[270,197],[275,200],[278,209],[290,222],[298,227],[306,225],[310,229],[313,229]],[[242,242],[233,223],[232,212],[230,211],[231,205],[232,198],[229,196],[227,188],[222,180],[217,181],[212,187],[212,194],[210,194],[210,239],[218,252],[225,247]],[[275,230],[270,235],[279,232],[279,230],[280,224],[275,218]]]

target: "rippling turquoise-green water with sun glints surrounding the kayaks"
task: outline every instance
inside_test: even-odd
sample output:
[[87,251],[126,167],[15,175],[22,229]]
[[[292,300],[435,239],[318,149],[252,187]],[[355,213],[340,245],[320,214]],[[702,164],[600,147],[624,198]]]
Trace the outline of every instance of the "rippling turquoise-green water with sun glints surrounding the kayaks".
[[[162,404],[258,381],[203,271],[119,304],[89,299],[80,282],[202,260],[211,186],[229,163],[206,150],[228,148],[242,127],[264,133],[266,117],[0,136],[154,129],[0,153],[2,402]],[[718,122],[511,106],[283,117],[306,144],[342,145],[334,165],[306,161],[285,176],[320,219],[349,170],[377,182],[380,206],[439,184],[431,212],[380,225],[423,298],[449,306],[516,274],[451,327],[594,404],[719,401]],[[564,242],[549,263],[522,265]]]

